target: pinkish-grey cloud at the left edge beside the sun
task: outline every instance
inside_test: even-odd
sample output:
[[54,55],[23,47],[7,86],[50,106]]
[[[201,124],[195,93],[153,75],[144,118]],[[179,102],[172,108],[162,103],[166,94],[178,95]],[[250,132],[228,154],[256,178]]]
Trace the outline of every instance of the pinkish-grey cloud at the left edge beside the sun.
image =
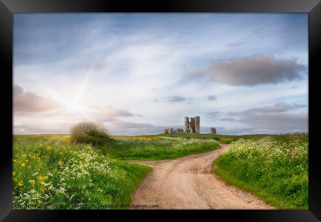
[[13,85],[13,110],[16,113],[47,112],[63,107],[64,105],[60,102],[31,91],[24,91],[22,87]]

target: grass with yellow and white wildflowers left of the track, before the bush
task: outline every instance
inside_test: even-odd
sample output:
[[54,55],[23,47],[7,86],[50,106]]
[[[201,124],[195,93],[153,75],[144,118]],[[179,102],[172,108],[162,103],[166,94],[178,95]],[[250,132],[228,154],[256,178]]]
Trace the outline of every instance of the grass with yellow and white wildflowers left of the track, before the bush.
[[13,140],[13,209],[122,209],[152,170],[72,144],[66,135],[15,135]]

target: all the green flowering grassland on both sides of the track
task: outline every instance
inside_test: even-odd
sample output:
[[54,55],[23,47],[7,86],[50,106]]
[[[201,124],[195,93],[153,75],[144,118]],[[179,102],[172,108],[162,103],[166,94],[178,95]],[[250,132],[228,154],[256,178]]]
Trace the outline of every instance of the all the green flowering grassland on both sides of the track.
[[307,133],[113,138],[94,147],[72,143],[69,135],[14,135],[13,209],[29,209],[28,205],[38,206],[36,209],[49,205],[56,206],[51,209],[122,209],[151,171],[126,160],[173,159],[215,150],[218,142],[231,144],[213,163],[213,170],[225,181],[279,209],[308,209]]

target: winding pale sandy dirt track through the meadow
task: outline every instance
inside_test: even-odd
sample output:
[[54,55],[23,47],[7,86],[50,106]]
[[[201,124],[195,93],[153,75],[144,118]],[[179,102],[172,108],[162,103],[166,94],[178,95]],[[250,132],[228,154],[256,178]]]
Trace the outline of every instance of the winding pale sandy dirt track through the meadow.
[[174,160],[136,162],[154,170],[132,195],[132,205],[158,205],[157,209],[274,209],[210,173],[212,162],[227,150],[228,145],[221,144],[217,150]]

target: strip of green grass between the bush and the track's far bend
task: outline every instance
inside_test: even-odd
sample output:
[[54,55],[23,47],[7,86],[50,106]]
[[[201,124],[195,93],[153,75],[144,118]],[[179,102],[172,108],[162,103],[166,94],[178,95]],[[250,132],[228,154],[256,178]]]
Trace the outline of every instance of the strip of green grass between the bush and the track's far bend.
[[208,152],[219,148],[212,137],[114,136],[115,143],[97,149],[120,160],[163,160]]

